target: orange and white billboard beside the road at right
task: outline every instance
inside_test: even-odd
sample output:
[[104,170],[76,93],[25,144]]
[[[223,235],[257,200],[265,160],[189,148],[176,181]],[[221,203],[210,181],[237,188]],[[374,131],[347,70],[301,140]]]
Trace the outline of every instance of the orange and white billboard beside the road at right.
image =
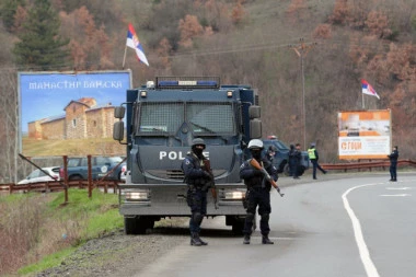
[[386,159],[391,142],[391,109],[338,113],[340,160]]

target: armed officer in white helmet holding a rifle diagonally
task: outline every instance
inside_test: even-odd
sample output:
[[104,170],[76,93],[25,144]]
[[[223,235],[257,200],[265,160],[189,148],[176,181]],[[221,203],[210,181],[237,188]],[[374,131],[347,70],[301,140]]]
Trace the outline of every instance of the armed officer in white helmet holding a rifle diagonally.
[[[252,158],[255,159],[267,173],[277,181],[277,170],[267,160],[267,158],[262,158],[263,141],[259,139],[252,139],[249,142],[249,149]],[[244,180],[244,184],[247,186],[246,194],[246,217],[244,222],[244,244],[250,244],[250,238],[252,234],[253,220],[255,216],[256,208],[258,206],[258,215],[261,218],[261,232],[262,232],[262,243],[263,244],[274,244],[273,241],[268,239],[268,233],[270,228],[268,226],[269,215],[271,212],[270,207],[270,188],[271,184],[265,180],[262,171],[254,169],[250,164],[250,160],[245,161],[240,168],[240,177]]]

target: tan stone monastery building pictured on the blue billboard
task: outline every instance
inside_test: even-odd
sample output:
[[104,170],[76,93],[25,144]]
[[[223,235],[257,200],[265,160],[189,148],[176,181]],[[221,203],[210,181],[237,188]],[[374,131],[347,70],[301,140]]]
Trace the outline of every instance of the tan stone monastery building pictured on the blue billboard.
[[95,99],[71,101],[65,115],[28,123],[28,137],[35,139],[85,139],[113,136],[114,106],[96,106]]

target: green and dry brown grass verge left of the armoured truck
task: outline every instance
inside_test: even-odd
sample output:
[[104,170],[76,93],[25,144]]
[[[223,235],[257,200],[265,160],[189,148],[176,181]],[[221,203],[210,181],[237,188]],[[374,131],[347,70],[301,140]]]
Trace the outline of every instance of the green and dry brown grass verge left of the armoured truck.
[[85,189],[0,197],[0,276],[59,265],[85,241],[123,228],[118,196]]

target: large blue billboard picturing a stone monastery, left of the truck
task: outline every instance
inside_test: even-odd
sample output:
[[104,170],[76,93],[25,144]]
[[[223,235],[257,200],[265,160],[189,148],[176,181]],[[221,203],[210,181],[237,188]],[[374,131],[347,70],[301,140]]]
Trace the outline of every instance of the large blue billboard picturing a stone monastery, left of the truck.
[[20,147],[27,157],[114,154],[115,106],[131,72],[19,72]]

